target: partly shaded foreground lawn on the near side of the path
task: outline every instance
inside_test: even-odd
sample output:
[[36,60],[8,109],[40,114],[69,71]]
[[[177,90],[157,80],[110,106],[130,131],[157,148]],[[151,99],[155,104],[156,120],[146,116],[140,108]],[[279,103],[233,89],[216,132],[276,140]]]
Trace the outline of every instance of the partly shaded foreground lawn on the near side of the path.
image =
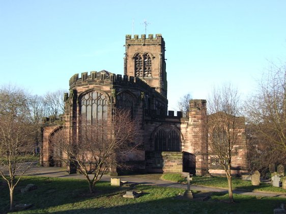
[[[38,189],[20,193],[27,184],[35,184]],[[136,199],[122,197],[131,190],[144,194]],[[5,213],[9,208],[9,191],[3,183],[0,193],[0,213]],[[285,202],[277,197],[234,195],[236,203],[228,204],[228,196],[217,193],[208,201],[174,200],[179,193],[184,190],[144,185],[130,189],[102,181],[90,194],[87,181],[82,179],[25,176],[15,189],[15,204],[34,204],[18,213],[273,213],[274,208]]]

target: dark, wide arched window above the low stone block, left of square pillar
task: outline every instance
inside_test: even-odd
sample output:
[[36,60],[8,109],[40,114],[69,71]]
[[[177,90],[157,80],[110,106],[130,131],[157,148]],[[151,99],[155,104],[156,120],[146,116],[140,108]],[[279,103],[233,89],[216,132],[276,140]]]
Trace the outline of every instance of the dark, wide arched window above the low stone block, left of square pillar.
[[155,134],[155,151],[180,151],[180,136],[173,128],[160,129]]

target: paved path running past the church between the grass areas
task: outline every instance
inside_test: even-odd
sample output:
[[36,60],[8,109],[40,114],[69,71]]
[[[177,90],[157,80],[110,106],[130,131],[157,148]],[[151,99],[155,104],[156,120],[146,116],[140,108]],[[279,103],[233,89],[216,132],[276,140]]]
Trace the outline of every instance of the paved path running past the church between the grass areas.
[[[35,175],[42,177],[65,177],[65,178],[75,178],[75,179],[85,179],[82,174],[68,174],[65,168],[59,167],[32,167],[26,172],[27,175]],[[129,176],[118,176],[121,180],[126,180],[128,182],[135,182],[143,185],[154,185],[159,187],[173,187],[173,188],[183,188],[187,189],[187,185],[182,185],[177,182],[170,182],[167,180],[160,180],[160,175],[158,174],[144,174],[144,175],[129,175]],[[109,175],[103,175],[102,179],[104,181],[110,181]],[[221,192],[227,193],[228,191],[221,188],[210,188],[191,185],[191,190],[203,191],[203,192]],[[286,199],[286,194],[279,193],[265,193],[265,192],[245,192],[234,190],[233,193],[241,195],[252,195],[261,197],[283,197]]]

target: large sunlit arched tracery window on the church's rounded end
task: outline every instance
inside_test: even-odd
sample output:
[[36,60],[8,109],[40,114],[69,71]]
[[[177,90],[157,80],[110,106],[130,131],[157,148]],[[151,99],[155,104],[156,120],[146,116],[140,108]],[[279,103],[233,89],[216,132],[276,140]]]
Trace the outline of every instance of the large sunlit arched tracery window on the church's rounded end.
[[81,121],[96,125],[107,121],[108,99],[103,93],[93,90],[80,98]]

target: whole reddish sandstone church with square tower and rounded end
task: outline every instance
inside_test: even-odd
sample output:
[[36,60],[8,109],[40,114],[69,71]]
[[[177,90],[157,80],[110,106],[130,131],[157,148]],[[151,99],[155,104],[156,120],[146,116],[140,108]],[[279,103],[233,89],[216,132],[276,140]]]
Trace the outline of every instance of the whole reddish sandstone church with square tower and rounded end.
[[[74,132],[75,118],[104,119],[113,108],[130,109],[140,124],[144,150],[128,162],[132,169],[143,172],[191,172],[196,175],[224,174],[224,170],[209,152],[203,136],[202,123],[206,100],[190,100],[189,112],[168,111],[165,42],[160,34],[126,35],[124,75],[107,71],[81,73],[69,80],[65,94],[65,115],[61,119],[46,118],[43,130],[42,165],[62,166],[53,160],[50,137],[60,128]],[[247,172],[244,118],[240,118],[241,133],[234,174]]]

